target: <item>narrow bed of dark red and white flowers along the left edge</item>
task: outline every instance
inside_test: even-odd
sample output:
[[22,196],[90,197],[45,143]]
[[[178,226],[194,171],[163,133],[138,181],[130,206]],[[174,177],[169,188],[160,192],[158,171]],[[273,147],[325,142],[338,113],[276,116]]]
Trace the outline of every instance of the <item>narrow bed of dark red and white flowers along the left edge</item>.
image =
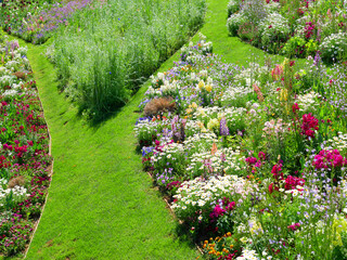
[[0,253],[26,248],[50,183],[52,158],[27,49],[0,42]]

